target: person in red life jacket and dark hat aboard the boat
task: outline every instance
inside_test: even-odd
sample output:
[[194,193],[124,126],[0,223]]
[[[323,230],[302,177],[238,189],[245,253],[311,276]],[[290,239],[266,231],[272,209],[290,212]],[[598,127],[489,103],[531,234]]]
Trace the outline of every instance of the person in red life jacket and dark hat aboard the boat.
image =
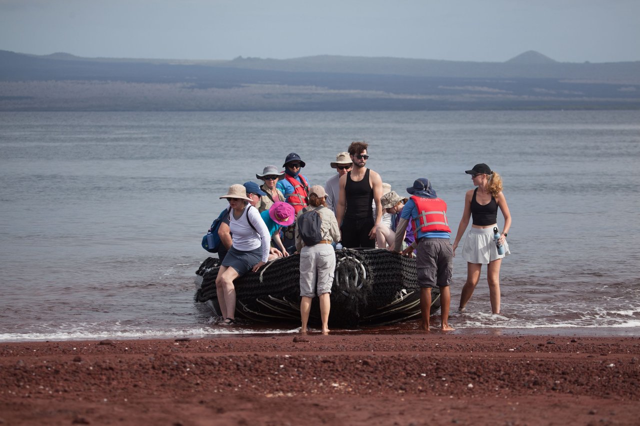
[[[296,210],[296,215],[300,210],[309,205],[309,188],[311,184],[307,178],[300,173],[300,170],[305,165],[300,155],[295,152],[287,155],[284,164],[282,164],[282,167],[285,168],[284,179],[278,181],[278,184],[276,184],[276,188],[280,189],[284,194],[285,201],[291,204]],[[295,244],[295,226],[296,224],[294,223],[291,226],[287,226],[287,228],[282,228],[284,231],[284,244],[287,249]]]

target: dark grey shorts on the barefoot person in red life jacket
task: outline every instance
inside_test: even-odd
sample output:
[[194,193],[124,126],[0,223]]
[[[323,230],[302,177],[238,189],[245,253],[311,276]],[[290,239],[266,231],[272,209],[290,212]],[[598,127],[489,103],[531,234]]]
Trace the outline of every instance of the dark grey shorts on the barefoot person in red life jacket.
[[420,287],[451,285],[453,278],[453,248],[448,238],[421,238],[418,241],[415,264]]

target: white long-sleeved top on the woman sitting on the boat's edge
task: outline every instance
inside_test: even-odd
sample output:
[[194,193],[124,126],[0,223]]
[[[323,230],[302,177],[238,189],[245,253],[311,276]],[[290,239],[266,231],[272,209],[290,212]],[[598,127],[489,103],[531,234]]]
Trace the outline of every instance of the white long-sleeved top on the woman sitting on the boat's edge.
[[[240,251],[252,251],[261,246],[262,262],[267,262],[269,260],[271,236],[269,236],[267,225],[260,217],[258,209],[252,205],[247,205],[239,219],[234,217],[233,210],[231,210],[230,216],[229,230],[233,235],[233,247]],[[258,233],[253,230],[247,220],[251,221]]]

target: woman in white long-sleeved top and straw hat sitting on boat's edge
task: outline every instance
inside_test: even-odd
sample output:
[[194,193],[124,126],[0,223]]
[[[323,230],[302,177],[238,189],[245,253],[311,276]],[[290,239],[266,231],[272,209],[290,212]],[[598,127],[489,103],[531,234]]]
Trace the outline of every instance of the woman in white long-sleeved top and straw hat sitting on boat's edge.
[[227,194],[220,198],[227,198],[229,201],[229,228],[234,236],[216,278],[216,294],[224,318],[220,324],[228,326],[236,322],[234,280],[250,270],[255,272],[266,264],[271,237],[260,213],[249,204],[251,198],[246,196],[243,185],[231,185]]

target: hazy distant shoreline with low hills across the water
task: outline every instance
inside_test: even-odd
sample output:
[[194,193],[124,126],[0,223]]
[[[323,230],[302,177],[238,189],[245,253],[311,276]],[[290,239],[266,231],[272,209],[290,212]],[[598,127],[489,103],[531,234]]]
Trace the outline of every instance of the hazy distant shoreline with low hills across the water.
[[0,51],[0,111],[640,109],[640,61],[314,56],[232,61]]

